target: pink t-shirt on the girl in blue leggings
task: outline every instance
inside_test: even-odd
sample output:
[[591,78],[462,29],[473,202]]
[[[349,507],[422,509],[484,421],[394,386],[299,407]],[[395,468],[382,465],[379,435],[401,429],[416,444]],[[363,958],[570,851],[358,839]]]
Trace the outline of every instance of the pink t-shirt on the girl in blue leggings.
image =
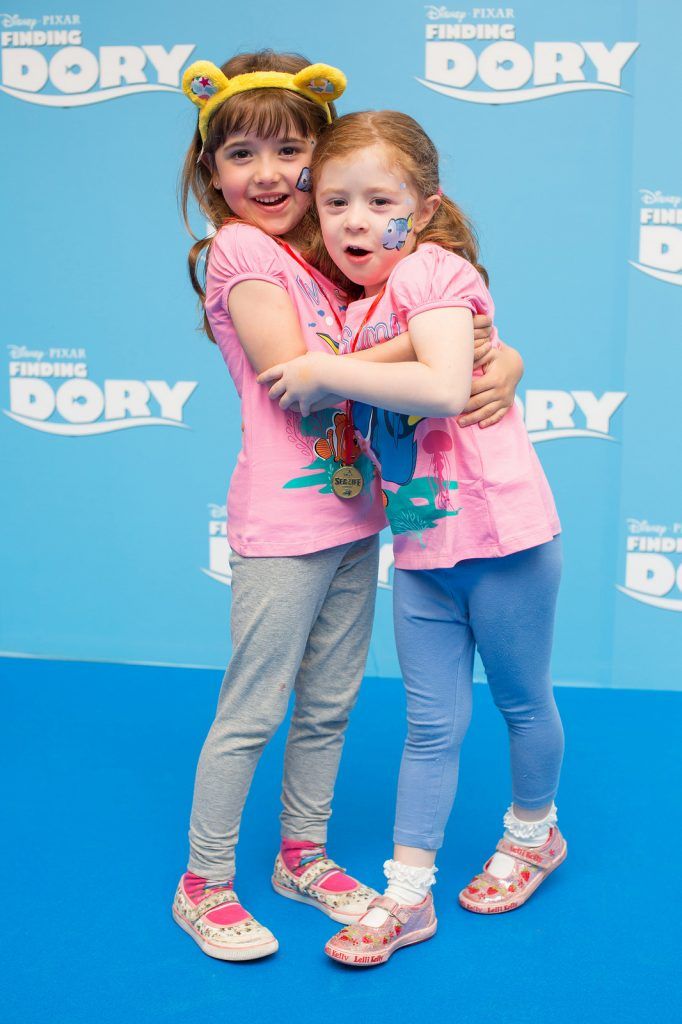
[[[342,353],[371,302],[349,305]],[[417,313],[443,306],[495,315],[478,271],[460,256],[425,244],[391,273],[357,348],[380,344],[407,330]],[[402,416],[359,402],[353,419],[381,465],[398,568],[497,558],[560,531],[552,493],[516,407],[485,430],[460,427],[453,417]]]

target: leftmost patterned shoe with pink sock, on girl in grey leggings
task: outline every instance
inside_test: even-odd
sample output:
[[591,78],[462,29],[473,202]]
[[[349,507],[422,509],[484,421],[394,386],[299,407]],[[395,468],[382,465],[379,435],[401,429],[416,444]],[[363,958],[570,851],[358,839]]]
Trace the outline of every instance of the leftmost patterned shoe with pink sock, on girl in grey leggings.
[[183,874],[173,900],[173,918],[209,956],[245,961],[276,952],[278,940],[244,910],[231,885],[207,887],[207,895],[199,898],[187,890]]

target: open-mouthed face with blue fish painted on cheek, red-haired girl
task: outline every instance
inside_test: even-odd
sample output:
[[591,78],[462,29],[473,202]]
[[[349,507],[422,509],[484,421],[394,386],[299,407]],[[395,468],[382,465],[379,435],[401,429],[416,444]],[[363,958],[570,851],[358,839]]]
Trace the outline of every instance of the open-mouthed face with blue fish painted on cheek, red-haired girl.
[[315,203],[327,251],[367,295],[376,294],[414,250],[415,232],[435,209],[427,210],[409,176],[379,145],[327,161],[315,181]]

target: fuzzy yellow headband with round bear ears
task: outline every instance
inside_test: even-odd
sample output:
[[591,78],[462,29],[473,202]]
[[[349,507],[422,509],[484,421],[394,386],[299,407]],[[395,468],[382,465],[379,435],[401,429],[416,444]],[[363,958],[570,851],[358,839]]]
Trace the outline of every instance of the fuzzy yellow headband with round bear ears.
[[182,76],[182,91],[199,108],[199,132],[206,141],[209,121],[230,96],[249,89],[290,89],[325,109],[331,122],[329,104],[346,87],[346,76],[329,65],[309,65],[296,75],[283,71],[255,71],[227,78],[210,60],[196,60]]

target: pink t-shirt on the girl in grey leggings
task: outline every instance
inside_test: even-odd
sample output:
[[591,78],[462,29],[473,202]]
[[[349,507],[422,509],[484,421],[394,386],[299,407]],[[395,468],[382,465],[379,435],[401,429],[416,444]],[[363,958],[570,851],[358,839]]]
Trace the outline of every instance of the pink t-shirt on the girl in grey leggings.
[[242,451],[227,495],[230,547],[247,556],[305,555],[371,537],[386,524],[371,460],[363,456],[357,463],[363,493],[337,498],[331,478],[341,465],[345,413],[324,410],[301,419],[268,398],[227,309],[230,290],[242,281],[265,281],[287,292],[311,351],[337,350],[340,332],[330,303],[341,322],[345,310],[345,297],[331,282],[301,267],[259,228],[227,224],[213,240],[206,313],[242,398]]

